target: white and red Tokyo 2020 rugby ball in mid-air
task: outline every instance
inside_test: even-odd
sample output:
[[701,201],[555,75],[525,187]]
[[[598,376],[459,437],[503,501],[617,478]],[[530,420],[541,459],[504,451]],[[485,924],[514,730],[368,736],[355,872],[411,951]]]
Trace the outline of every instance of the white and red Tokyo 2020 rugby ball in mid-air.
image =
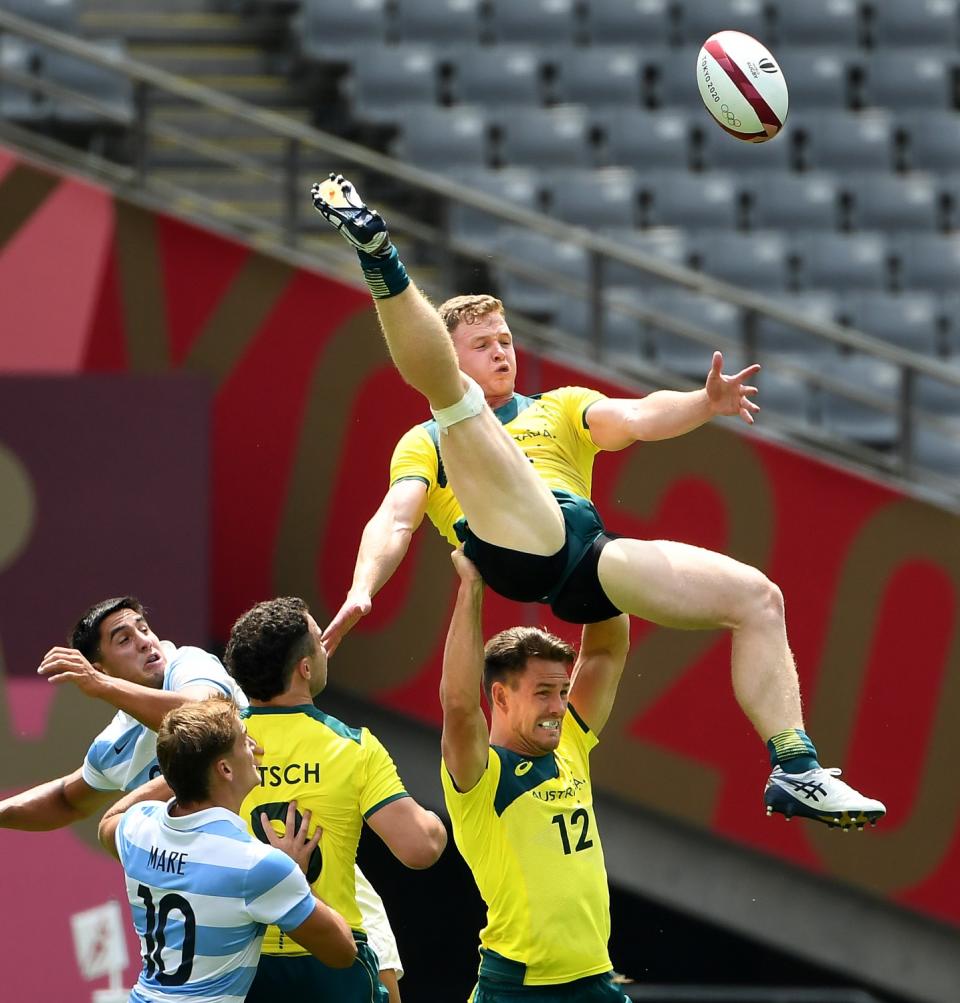
[[730,135],[766,142],[783,127],[786,81],[777,61],[751,35],[710,35],[697,56],[696,77],[707,111]]

